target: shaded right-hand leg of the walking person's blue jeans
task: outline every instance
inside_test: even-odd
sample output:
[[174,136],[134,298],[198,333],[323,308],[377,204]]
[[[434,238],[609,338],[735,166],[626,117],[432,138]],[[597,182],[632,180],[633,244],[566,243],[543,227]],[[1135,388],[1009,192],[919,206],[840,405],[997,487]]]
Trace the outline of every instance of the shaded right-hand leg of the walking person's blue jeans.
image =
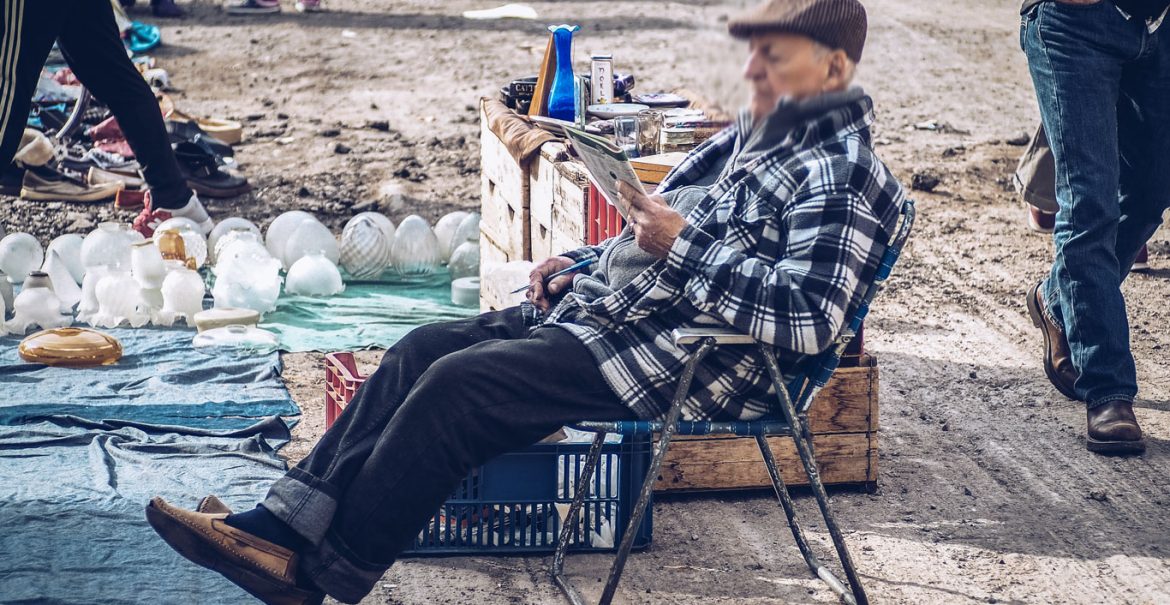
[[1121,142],[1122,279],[1170,207],[1170,32],[1158,29],[1147,54],[1126,67],[1117,106]]

